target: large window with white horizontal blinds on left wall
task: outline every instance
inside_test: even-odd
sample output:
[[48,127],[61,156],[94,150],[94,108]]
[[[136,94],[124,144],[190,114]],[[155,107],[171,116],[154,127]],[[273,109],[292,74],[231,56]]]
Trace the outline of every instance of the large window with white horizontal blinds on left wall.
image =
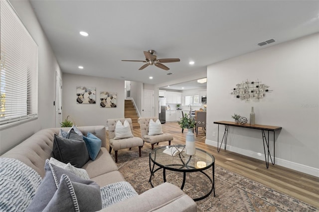
[[38,46],[7,0],[0,1],[0,127],[37,117]]

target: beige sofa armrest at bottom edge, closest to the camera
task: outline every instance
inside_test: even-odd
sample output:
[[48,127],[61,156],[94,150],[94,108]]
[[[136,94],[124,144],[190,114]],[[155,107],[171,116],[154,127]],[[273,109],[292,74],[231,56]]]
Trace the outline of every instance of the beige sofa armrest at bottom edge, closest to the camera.
[[196,212],[196,203],[178,187],[163,183],[141,195],[101,210],[101,212]]

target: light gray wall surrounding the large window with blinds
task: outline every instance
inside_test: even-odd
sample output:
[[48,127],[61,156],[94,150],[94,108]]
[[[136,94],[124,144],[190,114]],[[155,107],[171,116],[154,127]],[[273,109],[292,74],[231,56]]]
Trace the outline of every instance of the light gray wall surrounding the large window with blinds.
[[17,145],[34,132],[55,126],[55,72],[61,71],[51,46],[27,0],[10,0],[19,18],[38,45],[38,118],[0,131],[0,154]]

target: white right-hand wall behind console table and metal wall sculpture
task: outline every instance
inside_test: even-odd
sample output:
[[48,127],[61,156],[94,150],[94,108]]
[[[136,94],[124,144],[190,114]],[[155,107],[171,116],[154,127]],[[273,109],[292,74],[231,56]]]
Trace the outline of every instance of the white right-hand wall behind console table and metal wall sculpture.
[[[283,127],[276,132],[276,164],[319,176],[318,58],[319,34],[314,34],[208,66],[206,143],[217,144],[213,121],[233,121],[234,112],[249,118],[254,106],[256,124]],[[232,97],[231,90],[247,79],[259,79],[273,92],[259,101]],[[265,159],[260,130],[229,127],[227,145],[230,151]]]

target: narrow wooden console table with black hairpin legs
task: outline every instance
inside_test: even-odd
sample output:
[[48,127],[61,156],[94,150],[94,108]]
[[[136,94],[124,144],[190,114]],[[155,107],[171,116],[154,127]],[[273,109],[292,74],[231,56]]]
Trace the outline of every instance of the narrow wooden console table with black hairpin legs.
[[[251,129],[260,129],[262,132],[262,137],[263,137],[263,143],[264,143],[264,152],[265,152],[265,162],[266,162],[266,167],[268,169],[269,167],[269,156],[271,163],[274,165],[275,164],[275,131],[281,130],[282,127],[280,126],[268,126],[268,125],[260,125],[260,124],[255,124],[255,125],[250,125],[249,123],[246,124],[240,124],[240,123],[235,123],[232,121],[214,121],[215,124],[218,124],[218,132],[217,132],[217,151],[220,151],[221,145],[223,141],[225,141],[225,150],[226,150],[226,144],[227,144],[227,136],[228,136],[228,127],[229,126],[237,126],[237,127],[244,127],[244,128],[251,128]],[[221,140],[220,146],[219,146],[219,124],[225,125],[225,131],[223,138]],[[268,131],[268,138],[266,138],[265,131]],[[271,154],[269,151],[269,131],[274,132],[274,161],[271,158]],[[266,147],[267,147],[267,155],[266,155]]]

